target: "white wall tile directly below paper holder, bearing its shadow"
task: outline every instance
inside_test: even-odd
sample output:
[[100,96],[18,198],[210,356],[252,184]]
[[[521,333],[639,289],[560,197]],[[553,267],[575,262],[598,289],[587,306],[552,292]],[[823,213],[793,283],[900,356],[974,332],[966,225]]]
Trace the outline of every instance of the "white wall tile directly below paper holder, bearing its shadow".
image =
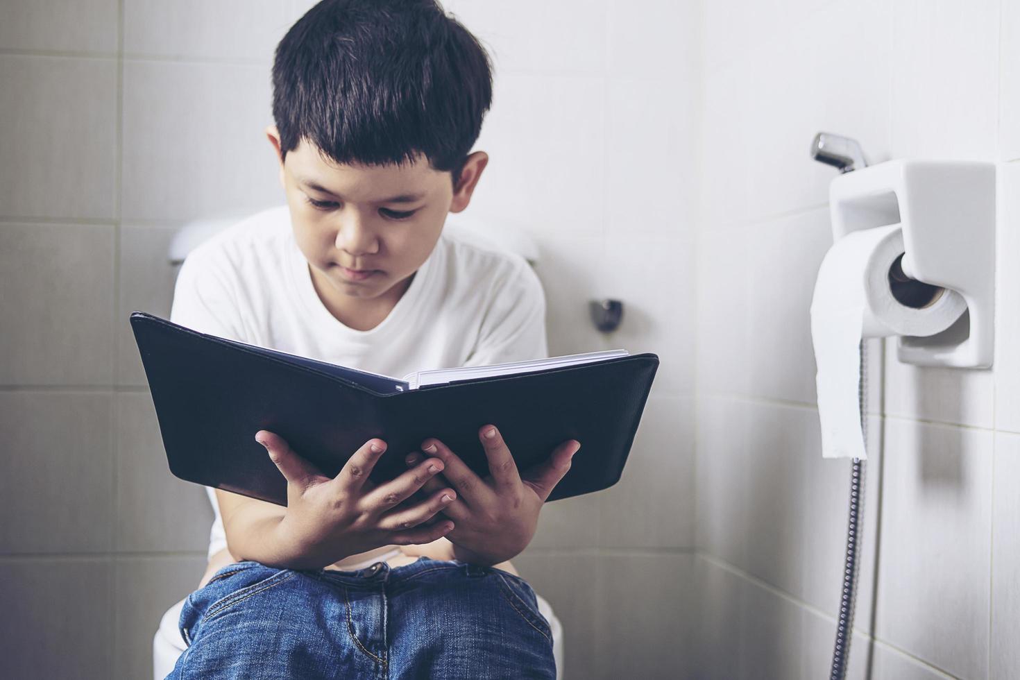
[[886,422],[875,632],[963,677],[988,671],[992,433]]

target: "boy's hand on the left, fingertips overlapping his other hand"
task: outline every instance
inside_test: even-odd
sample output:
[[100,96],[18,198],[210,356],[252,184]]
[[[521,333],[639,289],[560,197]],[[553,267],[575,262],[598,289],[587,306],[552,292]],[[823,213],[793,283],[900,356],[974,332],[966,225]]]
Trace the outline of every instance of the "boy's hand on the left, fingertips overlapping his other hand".
[[280,546],[276,562],[283,566],[320,569],[381,545],[427,543],[453,529],[449,520],[422,526],[456,500],[453,489],[437,485],[427,499],[403,504],[443,470],[443,461],[437,458],[376,486],[368,474],[386,451],[381,439],[366,441],[334,478],[272,432],[259,430],[255,439],[287,478],[287,512],[269,538]]

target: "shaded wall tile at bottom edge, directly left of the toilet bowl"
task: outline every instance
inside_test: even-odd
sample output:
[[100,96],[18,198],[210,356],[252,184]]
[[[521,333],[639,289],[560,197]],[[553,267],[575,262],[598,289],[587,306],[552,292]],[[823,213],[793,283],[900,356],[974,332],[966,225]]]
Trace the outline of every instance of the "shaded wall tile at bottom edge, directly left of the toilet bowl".
[[171,605],[198,587],[205,554],[191,557],[119,558],[114,561],[111,677],[152,675],[152,637]]

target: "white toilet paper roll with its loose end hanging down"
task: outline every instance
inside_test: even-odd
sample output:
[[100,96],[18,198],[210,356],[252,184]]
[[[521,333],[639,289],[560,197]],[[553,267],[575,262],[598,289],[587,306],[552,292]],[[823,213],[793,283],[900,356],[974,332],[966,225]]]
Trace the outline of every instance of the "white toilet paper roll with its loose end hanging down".
[[[934,335],[967,308],[955,291],[890,281],[889,272],[903,253],[899,224],[862,229],[837,241],[818,270],[811,335],[825,458],[866,458],[858,402],[861,341]],[[894,284],[897,295],[912,306],[897,299]]]

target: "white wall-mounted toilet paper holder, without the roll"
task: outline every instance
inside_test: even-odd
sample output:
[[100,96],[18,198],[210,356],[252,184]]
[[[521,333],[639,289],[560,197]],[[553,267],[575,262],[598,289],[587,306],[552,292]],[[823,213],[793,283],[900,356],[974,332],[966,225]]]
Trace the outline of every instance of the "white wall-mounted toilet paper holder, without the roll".
[[994,163],[891,160],[871,165],[832,180],[829,210],[834,241],[851,231],[899,222],[906,251],[902,274],[956,291],[967,302],[967,311],[948,330],[928,337],[899,337],[900,361],[919,366],[991,366]]

